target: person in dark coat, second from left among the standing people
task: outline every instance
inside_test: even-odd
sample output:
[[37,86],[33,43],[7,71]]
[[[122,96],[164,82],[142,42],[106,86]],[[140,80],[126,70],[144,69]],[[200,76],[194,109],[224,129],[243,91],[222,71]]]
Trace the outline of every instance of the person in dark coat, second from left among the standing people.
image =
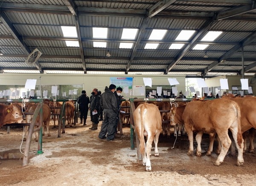
[[99,124],[99,107],[100,107],[100,96],[98,94],[98,89],[94,88],[93,92],[91,93],[92,96],[90,96],[90,117],[91,121],[93,122],[93,125],[91,130],[97,130],[98,124]]

